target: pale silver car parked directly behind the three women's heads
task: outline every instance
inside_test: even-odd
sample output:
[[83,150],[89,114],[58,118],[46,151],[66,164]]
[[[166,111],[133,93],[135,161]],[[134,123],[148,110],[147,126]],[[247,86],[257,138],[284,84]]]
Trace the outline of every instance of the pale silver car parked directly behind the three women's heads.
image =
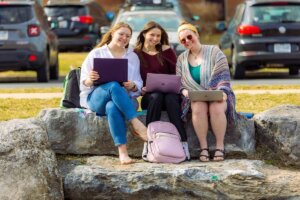
[[[177,28],[182,18],[176,15],[173,10],[138,10],[138,11],[123,11],[120,12],[112,25],[118,22],[125,22],[129,24],[133,30],[130,40],[130,46],[134,47],[136,44],[137,36],[143,29],[144,25],[149,21],[159,23],[168,33],[169,42],[172,48],[179,55],[185,49],[178,41]],[[102,28],[103,31],[107,30]]]

